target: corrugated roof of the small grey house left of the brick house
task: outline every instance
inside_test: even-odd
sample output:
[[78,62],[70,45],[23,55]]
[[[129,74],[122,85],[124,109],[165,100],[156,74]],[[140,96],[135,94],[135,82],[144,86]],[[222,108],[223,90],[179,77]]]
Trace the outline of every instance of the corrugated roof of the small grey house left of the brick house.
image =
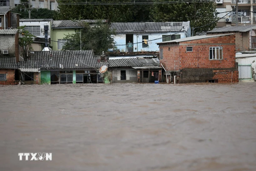
[[159,66],[158,58],[118,57],[108,59],[109,67],[153,67]]

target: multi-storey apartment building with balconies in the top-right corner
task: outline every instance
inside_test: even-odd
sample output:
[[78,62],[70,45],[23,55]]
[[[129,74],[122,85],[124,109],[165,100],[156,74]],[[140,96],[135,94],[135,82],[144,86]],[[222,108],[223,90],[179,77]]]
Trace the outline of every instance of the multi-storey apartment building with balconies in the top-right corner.
[[256,24],[256,0],[215,0],[216,10],[220,12],[217,27],[236,26],[236,1],[238,1],[238,25]]

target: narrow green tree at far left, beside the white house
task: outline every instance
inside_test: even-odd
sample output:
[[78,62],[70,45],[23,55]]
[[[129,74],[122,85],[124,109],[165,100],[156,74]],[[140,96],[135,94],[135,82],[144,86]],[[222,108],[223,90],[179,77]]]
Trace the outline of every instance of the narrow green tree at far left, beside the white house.
[[30,46],[34,41],[35,37],[34,35],[30,34],[29,31],[25,30],[25,27],[26,26],[18,27],[19,34],[21,34],[21,36],[18,38],[18,44],[20,46],[24,59],[27,58],[28,51],[32,49]]

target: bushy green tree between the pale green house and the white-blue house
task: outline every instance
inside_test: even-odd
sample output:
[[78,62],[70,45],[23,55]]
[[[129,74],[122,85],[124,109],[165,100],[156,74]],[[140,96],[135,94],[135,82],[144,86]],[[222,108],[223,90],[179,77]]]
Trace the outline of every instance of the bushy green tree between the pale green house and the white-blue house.
[[63,46],[63,49],[80,50],[80,34],[82,50],[94,50],[96,55],[101,55],[102,51],[114,48],[111,35],[115,32],[110,30],[108,24],[98,22],[95,26],[90,26],[88,23],[83,23],[82,26],[82,29],[76,30],[78,34],[66,35],[65,39],[69,39],[69,42]]

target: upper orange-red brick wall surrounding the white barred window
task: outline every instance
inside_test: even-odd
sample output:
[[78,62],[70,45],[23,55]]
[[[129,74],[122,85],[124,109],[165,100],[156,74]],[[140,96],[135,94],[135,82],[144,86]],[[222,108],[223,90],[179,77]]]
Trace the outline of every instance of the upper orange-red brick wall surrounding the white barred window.
[[[186,52],[188,46],[193,47],[193,52]],[[222,47],[223,59],[209,60],[210,47]],[[163,59],[160,63],[163,63],[168,71],[183,68],[234,68],[236,63],[234,35],[160,45],[159,48],[163,49]]]

